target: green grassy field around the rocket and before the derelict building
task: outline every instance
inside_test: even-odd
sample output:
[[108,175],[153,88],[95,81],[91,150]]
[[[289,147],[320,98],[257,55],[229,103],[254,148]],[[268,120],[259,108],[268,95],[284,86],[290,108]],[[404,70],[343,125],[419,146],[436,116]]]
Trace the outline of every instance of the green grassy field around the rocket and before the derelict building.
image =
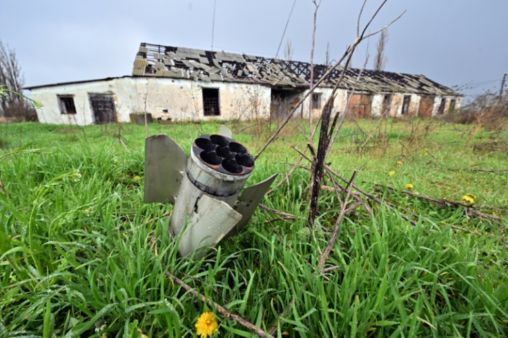
[[[270,135],[227,126],[253,153]],[[218,128],[153,123],[149,132],[188,152]],[[298,128],[308,121],[289,123],[248,185],[291,168],[291,145],[305,150]],[[371,213],[359,206],[344,218],[324,270],[317,264],[340,202],[322,190],[309,228],[305,168],[262,202],[293,217],[258,208],[206,257],[179,257],[162,217],[172,206],[143,203],[145,135],[125,124],[0,125],[1,337],[193,337],[207,309],[217,336],[253,335],[166,272],[275,337],[508,336],[507,132],[346,121],[327,162],[347,178],[358,170],[355,184],[383,203],[369,199]],[[418,196],[465,205],[471,194],[491,218],[408,195],[409,183]],[[413,223],[403,219],[411,214]]]

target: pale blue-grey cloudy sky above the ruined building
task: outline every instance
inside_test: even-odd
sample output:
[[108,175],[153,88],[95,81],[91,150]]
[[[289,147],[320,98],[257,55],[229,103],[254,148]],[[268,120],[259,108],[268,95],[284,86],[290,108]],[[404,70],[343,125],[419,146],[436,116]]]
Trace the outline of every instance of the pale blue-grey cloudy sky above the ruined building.
[[[381,2],[367,1],[361,26]],[[338,59],[355,40],[361,6],[322,0],[316,63],[327,44]],[[140,42],[275,57],[286,23],[279,57],[290,40],[292,59],[309,61],[314,8],[311,0],[0,0],[0,40],[17,53],[26,86],[130,74]],[[385,70],[424,74],[465,95],[499,90],[508,72],[507,0],[388,0],[369,30],[404,10],[388,30]],[[360,46],[354,67],[371,54],[372,68],[376,41]]]

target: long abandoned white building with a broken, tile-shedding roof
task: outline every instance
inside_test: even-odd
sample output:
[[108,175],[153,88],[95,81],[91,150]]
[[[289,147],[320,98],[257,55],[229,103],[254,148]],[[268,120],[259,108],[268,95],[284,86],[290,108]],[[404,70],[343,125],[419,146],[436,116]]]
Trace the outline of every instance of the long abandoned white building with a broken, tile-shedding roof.
[[[314,82],[328,69],[315,65]],[[317,117],[341,72],[333,69],[293,116]],[[423,75],[364,70],[356,81],[359,72],[344,74],[335,112],[350,101],[351,117],[433,117],[462,103],[462,95]],[[175,121],[277,119],[307,94],[310,77],[306,62],[141,43],[132,75],[26,89],[43,103],[37,109],[43,123],[128,122],[140,112]]]

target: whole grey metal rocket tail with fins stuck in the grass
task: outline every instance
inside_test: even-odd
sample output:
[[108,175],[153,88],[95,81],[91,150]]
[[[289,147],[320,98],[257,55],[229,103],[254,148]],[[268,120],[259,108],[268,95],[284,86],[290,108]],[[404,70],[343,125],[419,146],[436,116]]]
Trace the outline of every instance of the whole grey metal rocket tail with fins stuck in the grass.
[[168,231],[180,236],[183,256],[240,232],[278,175],[246,188],[238,198],[254,159],[231,138],[231,130],[223,126],[219,132],[195,139],[186,164],[184,150],[167,135],[145,139],[145,202],[175,204]]

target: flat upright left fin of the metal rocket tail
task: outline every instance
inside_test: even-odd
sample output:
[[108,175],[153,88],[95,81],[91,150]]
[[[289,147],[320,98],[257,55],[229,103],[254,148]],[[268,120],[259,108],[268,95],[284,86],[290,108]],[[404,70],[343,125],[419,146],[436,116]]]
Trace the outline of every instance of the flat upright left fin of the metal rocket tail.
[[175,203],[187,155],[166,134],[145,139],[145,203]]

